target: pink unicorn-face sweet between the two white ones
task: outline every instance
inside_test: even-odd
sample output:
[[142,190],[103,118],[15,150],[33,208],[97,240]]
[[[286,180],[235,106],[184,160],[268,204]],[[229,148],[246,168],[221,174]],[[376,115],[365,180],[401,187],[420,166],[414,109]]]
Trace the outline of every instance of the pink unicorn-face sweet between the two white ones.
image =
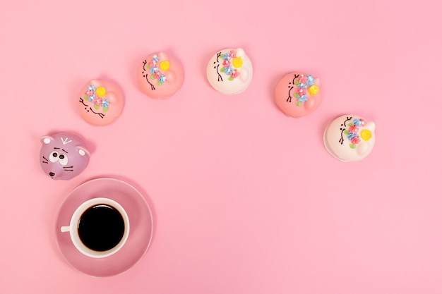
[[315,111],[321,104],[319,78],[305,73],[289,73],[277,82],[276,105],[286,116],[300,118]]

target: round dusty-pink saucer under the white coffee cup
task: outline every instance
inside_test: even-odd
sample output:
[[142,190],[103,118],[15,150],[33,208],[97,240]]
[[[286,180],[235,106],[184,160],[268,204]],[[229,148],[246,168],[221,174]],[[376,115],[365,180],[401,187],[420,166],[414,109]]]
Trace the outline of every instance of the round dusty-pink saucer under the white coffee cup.
[[[131,222],[126,244],[114,255],[103,258],[88,257],[73,245],[69,233],[61,233],[68,226],[76,208],[86,200],[107,197],[119,202]],[[150,208],[136,188],[114,178],[96,178],[75,188],[61,205],[56,219],[56,243],[66,260],[88,276],[104,277],[121,274],[136,264],[148,251],[153,235],[153,217]]]

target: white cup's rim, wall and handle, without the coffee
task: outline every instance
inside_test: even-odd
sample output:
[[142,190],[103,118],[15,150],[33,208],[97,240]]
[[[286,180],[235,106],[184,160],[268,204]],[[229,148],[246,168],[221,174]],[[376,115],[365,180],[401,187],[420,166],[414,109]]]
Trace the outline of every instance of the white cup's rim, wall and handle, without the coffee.
[[[117,245],[114,245],[108,250],[103,250],[103,251],[93,250],[87,245],[85,245],[85,243],[83,243],[83,240],[80,238],[79,227],[83,214],[85,214],[86,211],[90,212],[89,209],[97,209],[97,208],[104,210],[115,209],[117,212],[119,212],[124,222],[124,228],[123,228],[124,231],[121,240],[119,240]],[[85,216],[83,216],[83,218],[84,217]],[[102,221],[102,219],[100,219],[99,221]],[[83,221],[83,223],[85,223],[85,221]],[[112,230],[112,228],[107,228],[107,230]],[[93,198],[91,200],[85,201],[82,204],[80,204],[80,206],[76,209],[76,211],[73,212],[69,226],[62,226],[60,228],[60,231],[69,232],[69,234],[71,235],[71,240],[73,245],[78,249],[78,251],[83,253],[83,255],[95,258],[108,257],[118,252],[121,249],[121,247],[123,247],[124,243],[126,243],[126,240],[129,237],[129,216],[127,215],[124,208],[118,202],[103,197]]]

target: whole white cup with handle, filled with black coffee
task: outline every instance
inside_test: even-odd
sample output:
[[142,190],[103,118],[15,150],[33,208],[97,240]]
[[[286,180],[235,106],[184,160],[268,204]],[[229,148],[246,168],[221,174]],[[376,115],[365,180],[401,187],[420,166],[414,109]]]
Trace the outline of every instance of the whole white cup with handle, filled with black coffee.
[[113,255],[123,247],[129,237],[129,216],[121,205],[108,198],[85,201],[73,212],[69,226],[73,245],[89,257]]

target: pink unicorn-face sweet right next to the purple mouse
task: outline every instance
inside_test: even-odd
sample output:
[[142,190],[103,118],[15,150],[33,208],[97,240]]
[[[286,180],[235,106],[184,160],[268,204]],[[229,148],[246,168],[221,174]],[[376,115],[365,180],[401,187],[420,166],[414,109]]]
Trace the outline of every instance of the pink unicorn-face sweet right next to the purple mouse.
[[91,125],[109,125],[123,112],[124,95],[108,80],[90,80],[78,94],[78,111]]

